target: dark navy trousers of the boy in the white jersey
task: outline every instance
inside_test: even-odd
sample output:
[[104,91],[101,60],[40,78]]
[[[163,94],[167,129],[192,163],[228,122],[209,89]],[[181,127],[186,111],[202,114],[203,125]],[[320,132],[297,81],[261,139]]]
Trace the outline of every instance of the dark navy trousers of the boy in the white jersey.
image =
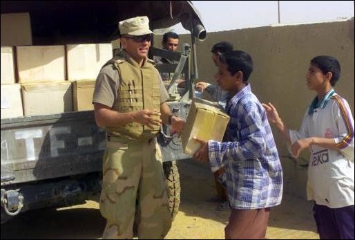
[[320,239],[354,239],[354,205],[330,208],[314,204]]

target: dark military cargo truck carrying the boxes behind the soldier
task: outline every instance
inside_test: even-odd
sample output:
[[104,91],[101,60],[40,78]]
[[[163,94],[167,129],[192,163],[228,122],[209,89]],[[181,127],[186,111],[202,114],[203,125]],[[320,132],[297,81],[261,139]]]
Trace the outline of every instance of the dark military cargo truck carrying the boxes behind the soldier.
[[[148,16],[152,30],[181,23],[191,33],[191,45],[184,44],[181,53],[152,46],[148,56],[175,61],[156,66],[173,73],[168,89],[184,74],[186,87],[175,89],[169,107],[186,118],[198,79],[196,40],[207,36],[191,1],[1,1],[1,14],[15,12],[29,12],[32,45],[110,43],[118,37],[119,21],[136,16]],[[180,205],[175,161],[190,156],[182,152],[180,139],[170,136],[169,126],[157,138],[173,218]],[[1,223],[21,212],[75,205],[98,194],[105,139],[93,111],[1,118]]]

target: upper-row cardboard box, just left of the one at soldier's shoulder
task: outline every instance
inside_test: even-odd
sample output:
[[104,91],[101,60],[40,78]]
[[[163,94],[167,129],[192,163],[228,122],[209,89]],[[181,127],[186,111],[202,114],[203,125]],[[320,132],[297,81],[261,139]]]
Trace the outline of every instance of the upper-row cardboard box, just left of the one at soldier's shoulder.
[[64,46],[18,46],[16,50],[19,83],[66,80]]

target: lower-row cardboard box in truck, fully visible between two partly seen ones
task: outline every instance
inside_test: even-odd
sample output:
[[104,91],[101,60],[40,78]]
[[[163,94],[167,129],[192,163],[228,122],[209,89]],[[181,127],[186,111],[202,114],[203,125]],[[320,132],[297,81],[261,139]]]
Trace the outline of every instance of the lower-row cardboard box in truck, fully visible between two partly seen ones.
[[25,116],[73,111],[70,82],[23,84],[21,89]]

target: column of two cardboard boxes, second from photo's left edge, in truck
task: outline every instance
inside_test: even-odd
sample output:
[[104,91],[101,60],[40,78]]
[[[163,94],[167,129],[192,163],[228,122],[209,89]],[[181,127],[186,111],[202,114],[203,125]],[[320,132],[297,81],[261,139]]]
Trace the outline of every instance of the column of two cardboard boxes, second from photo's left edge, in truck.
[[73,111],[64,46],[17,46],[16,51],[24,115]]

